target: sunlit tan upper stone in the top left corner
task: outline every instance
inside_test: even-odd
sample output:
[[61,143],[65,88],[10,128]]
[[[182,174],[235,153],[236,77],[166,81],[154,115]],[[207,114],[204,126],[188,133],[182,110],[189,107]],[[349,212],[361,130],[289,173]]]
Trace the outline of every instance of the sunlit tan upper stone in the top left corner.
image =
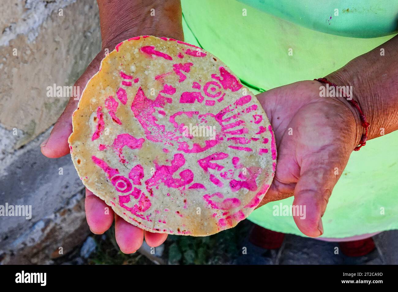
[[95,0],[27,0],[2,11],[0,125],[24,133],[18,149],[54,124],[68,101],[47,97],[47,87],[73,85],[100,50],[98,7]]

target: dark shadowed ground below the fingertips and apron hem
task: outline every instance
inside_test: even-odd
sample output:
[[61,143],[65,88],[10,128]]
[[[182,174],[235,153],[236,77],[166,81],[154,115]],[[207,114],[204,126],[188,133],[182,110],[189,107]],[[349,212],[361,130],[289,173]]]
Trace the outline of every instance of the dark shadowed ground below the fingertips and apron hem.
[[[373,237],[376,249],[366,256],[347,257],[338,243],[324,242],[291,234],[285,235],[280,249],[266,250],[248,241],[253,223],[206,238],[169,236],[155,253],[145,243],[135,254],[119,251],[113,230],[90,235],[78,248],[53,264],[235,264],[235,265],[391,265],[398,264],[398,230]],[[245,237],[246,236],[246,237]],[[245,250],[246,252],[242,252]]]

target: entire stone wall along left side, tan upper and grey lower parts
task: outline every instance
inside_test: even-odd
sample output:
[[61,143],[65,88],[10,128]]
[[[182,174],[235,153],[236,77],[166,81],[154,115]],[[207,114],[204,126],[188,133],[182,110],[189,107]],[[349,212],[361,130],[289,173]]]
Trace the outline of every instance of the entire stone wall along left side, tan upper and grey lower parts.
[[[83,185],[70,156],[48,159],[48,137],[73,85],[101,46],[96,0],[7,0],[0,9],[0,205],[32,216],[0,217],[1,263],[51,263],[89,232]],[[62,255],[62,254],[61,254]]]

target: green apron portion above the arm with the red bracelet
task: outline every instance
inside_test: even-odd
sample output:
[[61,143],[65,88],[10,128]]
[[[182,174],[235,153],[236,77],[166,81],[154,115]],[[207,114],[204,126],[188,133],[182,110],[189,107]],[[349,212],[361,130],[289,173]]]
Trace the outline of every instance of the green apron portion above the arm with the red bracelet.
[[[384,43],[398,1],[183,0],[185,39],[258,89],[324,77]],[[261,90],[260,90],[261,91]]]

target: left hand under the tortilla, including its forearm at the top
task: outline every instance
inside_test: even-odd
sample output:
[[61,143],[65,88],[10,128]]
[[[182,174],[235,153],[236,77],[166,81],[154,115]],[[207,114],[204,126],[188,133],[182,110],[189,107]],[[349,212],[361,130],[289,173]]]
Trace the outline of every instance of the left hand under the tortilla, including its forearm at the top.
[[[77,108],[80,95],[90,78],[100,69],[101,60],[118,43],[138,35],[172,37],[181,41],[184,39],[179,0],[143,0],[139,3],[131,0],[118,0],[111,4],[105,2],[107,1],[98,0],[102,49],[74,84],[79,88],[77,91],[79,95],[70,97],[49,138],[42,143],[41,153],[46,157],[58,158],[70,153],[68,137],[72,133],[72,114]],[[154,15],[151,15],[151,9],[154,9]],[[124,253],[137,251],[144,238],[146,243],[152,247],[159,246],[167,238],[167,234],[144,231],[123,220],[87,188],[84,206],[87,223],[95,234],[102,234],[108,230],[115,218],[116,241]]]

